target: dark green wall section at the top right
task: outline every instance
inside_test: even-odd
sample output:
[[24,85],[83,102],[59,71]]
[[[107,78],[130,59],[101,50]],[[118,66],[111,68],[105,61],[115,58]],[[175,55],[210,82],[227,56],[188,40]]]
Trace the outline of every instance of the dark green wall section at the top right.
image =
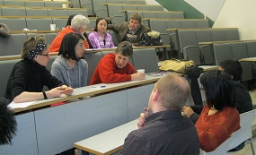
[[[169,11],[182,11],[185,18],[204,18],[204,14],[200,13],[193,6],[184,0],[155,0],[157,3],[162,4],[163,7]],[[213,21],[209,20],[209,25],[212,27]]]

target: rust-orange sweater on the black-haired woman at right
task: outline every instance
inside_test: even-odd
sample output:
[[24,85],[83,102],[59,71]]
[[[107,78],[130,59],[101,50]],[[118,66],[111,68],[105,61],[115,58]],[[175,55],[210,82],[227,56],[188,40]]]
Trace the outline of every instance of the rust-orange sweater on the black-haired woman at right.
[[240,116],[236,108],[225,107],[211,116],[207,116],[208,111],[206,105],[196,123],[200,148],[207,152],[215,151],[232,133],[240,129]]

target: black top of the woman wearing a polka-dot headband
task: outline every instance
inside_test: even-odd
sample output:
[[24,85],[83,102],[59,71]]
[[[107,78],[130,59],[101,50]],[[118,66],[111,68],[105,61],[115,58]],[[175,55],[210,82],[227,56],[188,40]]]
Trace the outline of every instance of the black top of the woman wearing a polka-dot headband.
[[44,85],[51,90],[63,84],[51,75],[45,66],[39,65],[33,60],[24,59],[14,65],[4,96],[12,101],[23,91],[41,92]]

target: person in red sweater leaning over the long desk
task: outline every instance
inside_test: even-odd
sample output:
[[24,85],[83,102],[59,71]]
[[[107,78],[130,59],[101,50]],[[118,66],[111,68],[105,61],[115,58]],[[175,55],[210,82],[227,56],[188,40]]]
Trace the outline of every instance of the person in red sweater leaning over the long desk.
[[128,41],[119,43],[115,54],[103,56],[95,68],[90,85],[144,80],[145,73],[136,73],[128,60],[133,55],[133,47]]

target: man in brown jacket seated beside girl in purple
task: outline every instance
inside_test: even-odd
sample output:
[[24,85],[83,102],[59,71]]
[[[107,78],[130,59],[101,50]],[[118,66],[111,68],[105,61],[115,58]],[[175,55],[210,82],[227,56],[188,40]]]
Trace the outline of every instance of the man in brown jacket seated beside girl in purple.
[[108,29],[118,33],[119,43],[129,41],[133,45],[137,45],[140,35],[143,32],[149,32],[150,29],[141,24],[141,16],[138,13],[133,13],[129,17],[129,22],[122,22],[120,25],[109,24]]

